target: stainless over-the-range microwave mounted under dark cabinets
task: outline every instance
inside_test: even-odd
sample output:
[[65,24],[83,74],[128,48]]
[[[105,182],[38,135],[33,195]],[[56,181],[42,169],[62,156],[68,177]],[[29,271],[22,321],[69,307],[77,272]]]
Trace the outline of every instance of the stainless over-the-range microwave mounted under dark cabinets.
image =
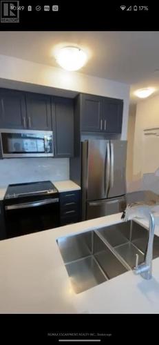
[[53,132],[43,130],[0,130],[3,158],[54,156]]

